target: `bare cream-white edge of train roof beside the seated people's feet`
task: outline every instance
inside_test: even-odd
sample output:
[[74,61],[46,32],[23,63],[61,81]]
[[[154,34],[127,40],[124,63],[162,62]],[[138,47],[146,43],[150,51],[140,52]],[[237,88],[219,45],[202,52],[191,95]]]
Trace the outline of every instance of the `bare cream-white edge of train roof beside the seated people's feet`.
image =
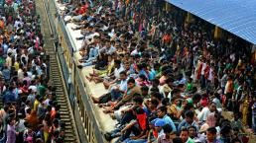
[[[60,5],[59,3],[56,3],[57,6],[61,7],[60,10],[64,9],[63,5]],[[76,63],[76,65],[79,64],[79,59],[81,58],[79,51],[77,50],[81,44],[82,44],[82,40],[76,40],[75,37],[77,36],[81,36],[80,34],[80,30],[76,30],[73,31],[71,28],[74,28],[76,25],[73,23],[68,23],[65,25],[65,29],[67,32],[67,35],[69,36],[69,39],[71,39],[71,43],[73,46],[73,59]],[[89,73],[91,73],[93,70],[93,66],[87,66],[87,67],[83,67],[82,69],[80,69],[80,77],[82,79],[82,82],[85,86],[84,90],[86,93],[86,96],[88,96],[88,99],[90,99],[89,103],[90,106],[93,108],[92,112],[94,113],[93,115],[95,116],[98,126],[100,127],[100,130],[102,132],[107,132],[107,131],[111,131],[115,128],[115,124],[117,123],[116,120],[113,120],[109,114],[105,114],[103,113],[103,108],[98,107],[97,105],[93,104],[92,100],[91,100],[91,96],[93,95],[93,97],[98,98],[100,96],[102,96],[103,94],[107,93],[107,90],[105,90],[104,86],[102,83],[99,84],[95,84],[92,82],[89,82],[85,76],[88,75]]]

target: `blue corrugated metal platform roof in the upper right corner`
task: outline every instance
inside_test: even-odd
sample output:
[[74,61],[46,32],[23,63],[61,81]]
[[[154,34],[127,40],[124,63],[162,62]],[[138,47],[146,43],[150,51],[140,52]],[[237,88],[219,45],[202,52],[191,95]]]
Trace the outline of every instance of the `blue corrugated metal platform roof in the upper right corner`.
[[166,0],[256,44],[256,0]]

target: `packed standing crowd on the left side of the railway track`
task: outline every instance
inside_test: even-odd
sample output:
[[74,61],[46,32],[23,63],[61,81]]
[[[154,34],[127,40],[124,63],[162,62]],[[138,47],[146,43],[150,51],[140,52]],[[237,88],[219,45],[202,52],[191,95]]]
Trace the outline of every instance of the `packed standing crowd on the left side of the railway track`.
[[33,0],[6,0],[0,14],[0,143],[63,143]]

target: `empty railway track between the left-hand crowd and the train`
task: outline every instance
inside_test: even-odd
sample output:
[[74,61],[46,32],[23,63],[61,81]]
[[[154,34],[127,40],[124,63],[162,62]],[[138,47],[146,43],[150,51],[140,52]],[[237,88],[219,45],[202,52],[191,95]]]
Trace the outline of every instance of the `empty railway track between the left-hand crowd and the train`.
[[45,39],[45,50],[50,56],[50,79],[56,87],[58,105],[61,106],[61,120],[64,122],[64,143],[79,143],[79,137],[76,125],[72,115],[72,109],[64,87],[63,73],[60,67],[57,52],[55,51],[54,39],[51,37],[51,28],[49,25],[44,3],[36,0],[37,12],[41,16],[41,28]]

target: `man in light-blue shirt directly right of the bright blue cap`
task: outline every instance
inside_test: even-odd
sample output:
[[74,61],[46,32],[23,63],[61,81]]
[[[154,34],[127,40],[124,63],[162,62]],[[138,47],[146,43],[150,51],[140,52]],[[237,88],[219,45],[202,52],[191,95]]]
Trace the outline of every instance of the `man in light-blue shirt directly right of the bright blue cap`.
[[158,108],[158,117],[165,120],[166,124],[170,124],[173,131],[177,131],[174,121],[167,114],[167,107],[159,107]]

